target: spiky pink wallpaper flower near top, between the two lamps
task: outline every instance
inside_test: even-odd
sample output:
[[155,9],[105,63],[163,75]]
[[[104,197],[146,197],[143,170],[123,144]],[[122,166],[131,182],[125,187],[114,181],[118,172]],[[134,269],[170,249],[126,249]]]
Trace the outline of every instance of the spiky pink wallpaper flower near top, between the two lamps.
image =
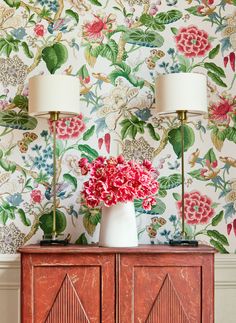
[[110,32],[114,19],[112,15],[99,17],[94,15],[94,20],[87,22],[83,26],[83,37],[90,41],[102,41],[104,32]]

